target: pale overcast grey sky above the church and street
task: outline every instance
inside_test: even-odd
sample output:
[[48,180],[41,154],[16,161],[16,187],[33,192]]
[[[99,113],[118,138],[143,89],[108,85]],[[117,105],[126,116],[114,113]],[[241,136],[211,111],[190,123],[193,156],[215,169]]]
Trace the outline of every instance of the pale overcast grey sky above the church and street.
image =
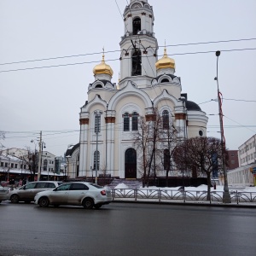
[[[0,0],[0,131],[5,132],[0,143],[5,148],[38,147],[31,140],[37,141],[39,131],[51,154],[63,155],[68,145],[79,143],[79,112],[102,48],[112,82],[118,83],[122,15],[129,2]],[[208,137],[220,137],[214,78],[215,52],[221,51],[224,137],[227,148],[238,149],[256,133],[256,1],[148,3],[159,58],[166,45],[182,92],[207,113]]]

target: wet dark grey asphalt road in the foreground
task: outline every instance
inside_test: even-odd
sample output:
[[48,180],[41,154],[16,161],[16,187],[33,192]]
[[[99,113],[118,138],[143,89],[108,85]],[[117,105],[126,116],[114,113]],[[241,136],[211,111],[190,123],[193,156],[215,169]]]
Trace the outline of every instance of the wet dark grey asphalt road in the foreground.
[[0,255],[256,255],[256,210],[112,203],[0,204]]

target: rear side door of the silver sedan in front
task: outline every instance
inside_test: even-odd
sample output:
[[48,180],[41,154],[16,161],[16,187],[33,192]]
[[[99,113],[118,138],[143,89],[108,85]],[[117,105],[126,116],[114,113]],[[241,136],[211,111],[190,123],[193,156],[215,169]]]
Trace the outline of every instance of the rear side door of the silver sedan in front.
[[84,183],[72,183],[67,203],[70,205],[81,205],[88,193],[89,188]]

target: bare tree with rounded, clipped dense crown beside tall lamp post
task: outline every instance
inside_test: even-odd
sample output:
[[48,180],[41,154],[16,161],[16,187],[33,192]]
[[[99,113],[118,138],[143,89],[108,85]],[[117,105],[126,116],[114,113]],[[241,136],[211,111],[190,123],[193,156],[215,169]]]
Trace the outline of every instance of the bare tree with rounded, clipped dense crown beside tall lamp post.
[[207,200],[210,201],[211,173],[221,169],[222,143],[216,137],[193,137],[174,149],[174,161],[179,169],[195,168],[207,175]]

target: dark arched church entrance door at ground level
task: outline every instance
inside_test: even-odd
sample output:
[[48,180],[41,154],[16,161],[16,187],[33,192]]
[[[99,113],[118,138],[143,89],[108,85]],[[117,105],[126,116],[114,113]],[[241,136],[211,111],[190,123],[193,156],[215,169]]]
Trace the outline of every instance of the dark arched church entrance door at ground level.
[[134,148],[125,151],[125,178],[137,178],[137,153]]

